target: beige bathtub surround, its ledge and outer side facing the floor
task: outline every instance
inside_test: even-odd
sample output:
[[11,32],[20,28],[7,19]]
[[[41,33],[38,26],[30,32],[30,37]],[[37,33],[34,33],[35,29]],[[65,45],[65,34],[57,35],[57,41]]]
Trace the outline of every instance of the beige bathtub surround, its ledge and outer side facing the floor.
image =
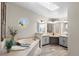
[[41,53],[41,48],[39,47],[39,40],[20,39],[17,42],[30,44],[28,48],[23,50],[11,50],[10,53],[5,53],[3,56],[38,56]]

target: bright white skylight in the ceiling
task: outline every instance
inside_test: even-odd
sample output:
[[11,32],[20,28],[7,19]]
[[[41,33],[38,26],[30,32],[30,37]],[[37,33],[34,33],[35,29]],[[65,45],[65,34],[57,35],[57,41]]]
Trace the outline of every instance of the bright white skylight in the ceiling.
[[59,8],[59,6],[57,6],[56,4],[54,3],[50,3],[50,2],[39,2],[39,4],[45,8],[47,8],[48,10],[50,11],[54,11],[56,9]]

